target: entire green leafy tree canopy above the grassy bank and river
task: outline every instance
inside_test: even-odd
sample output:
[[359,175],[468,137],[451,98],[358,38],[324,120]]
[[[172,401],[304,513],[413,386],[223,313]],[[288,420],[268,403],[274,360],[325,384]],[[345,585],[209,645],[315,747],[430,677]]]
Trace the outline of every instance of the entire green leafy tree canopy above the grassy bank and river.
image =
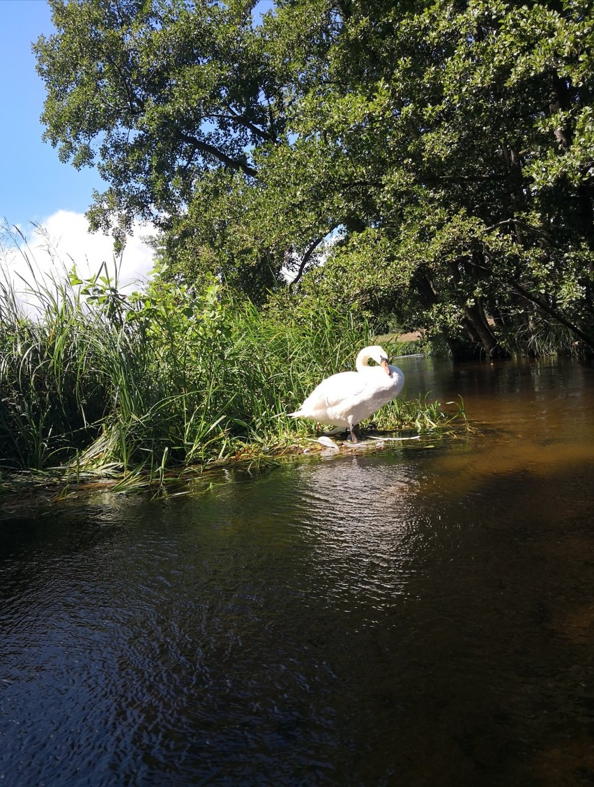
[[594,348],[592,0],[50,6],[46,139],[109,184],[94,227],[160,227],[169,275],[455,352],[543,324]]

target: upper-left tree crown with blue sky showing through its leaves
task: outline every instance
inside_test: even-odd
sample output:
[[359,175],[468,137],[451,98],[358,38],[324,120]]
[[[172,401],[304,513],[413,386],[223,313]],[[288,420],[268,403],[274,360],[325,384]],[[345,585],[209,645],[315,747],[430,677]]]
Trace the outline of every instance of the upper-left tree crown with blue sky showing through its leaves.
[[90,218],[109,227],[183,211],[217,168],[256,171],[249,151],[279,134],[250,4],[50,0],[57,32],[34,46],[45,139],[109,183]]

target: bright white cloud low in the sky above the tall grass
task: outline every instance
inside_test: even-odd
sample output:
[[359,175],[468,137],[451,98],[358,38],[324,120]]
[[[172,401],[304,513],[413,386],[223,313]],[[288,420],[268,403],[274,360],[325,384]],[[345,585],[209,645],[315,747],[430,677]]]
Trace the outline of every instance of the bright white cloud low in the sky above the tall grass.
[[[6,247],[5,242],[0,260],[18,290],[24,289],[21,279],[31,281],[25,255],[35,275],[42,279],[65,279],[73,265],[79,277],[85,279],[97,273],[103,262],[108,265],[109,275],[114,275],[113,238],[101,232],[90,233],[83,213],[58,210],[39,227],[31,227],[30,231],[19,229],[26,238],[26,246],[21,242],[19,253],[16,247]],[[150,225],[135,224],[128,235],[124,253],[117,260],[121,288],[142,284],[153,268],[154,252],[146,243],[147,236],[153,232]]]

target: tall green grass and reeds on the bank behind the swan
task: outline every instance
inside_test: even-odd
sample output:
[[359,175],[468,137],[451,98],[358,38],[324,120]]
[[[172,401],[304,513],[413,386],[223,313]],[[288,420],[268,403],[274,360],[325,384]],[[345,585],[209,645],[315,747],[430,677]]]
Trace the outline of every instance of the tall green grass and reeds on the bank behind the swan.
[[[5,477],[59,468],[158,479],[286,452],[313,428],[286,412],[374,341],[348,312],[311,303],[260,312],[216,280],[192,292],[157,277],[124,295],[103,269],[30,287],[35,314],[13,286],[0,286]],[[396,402],[381,425],[422,430],[447,420],[437,405]]]

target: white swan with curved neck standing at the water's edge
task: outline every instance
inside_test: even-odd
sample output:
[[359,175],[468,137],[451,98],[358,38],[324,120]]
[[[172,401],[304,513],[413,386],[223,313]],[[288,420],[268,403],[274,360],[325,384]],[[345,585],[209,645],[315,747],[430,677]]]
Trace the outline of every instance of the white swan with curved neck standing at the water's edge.
[[[370,359],[378,366],[368,366]],[[341,371],[319,383],[292,418],[311,418],[334,427],[348,427],[352,442],[357,441],[356,425],[382,405],[398,396],[404,386],[404,374],[389,366],[381,347],[363,347],[357,356],[357,371]]]

